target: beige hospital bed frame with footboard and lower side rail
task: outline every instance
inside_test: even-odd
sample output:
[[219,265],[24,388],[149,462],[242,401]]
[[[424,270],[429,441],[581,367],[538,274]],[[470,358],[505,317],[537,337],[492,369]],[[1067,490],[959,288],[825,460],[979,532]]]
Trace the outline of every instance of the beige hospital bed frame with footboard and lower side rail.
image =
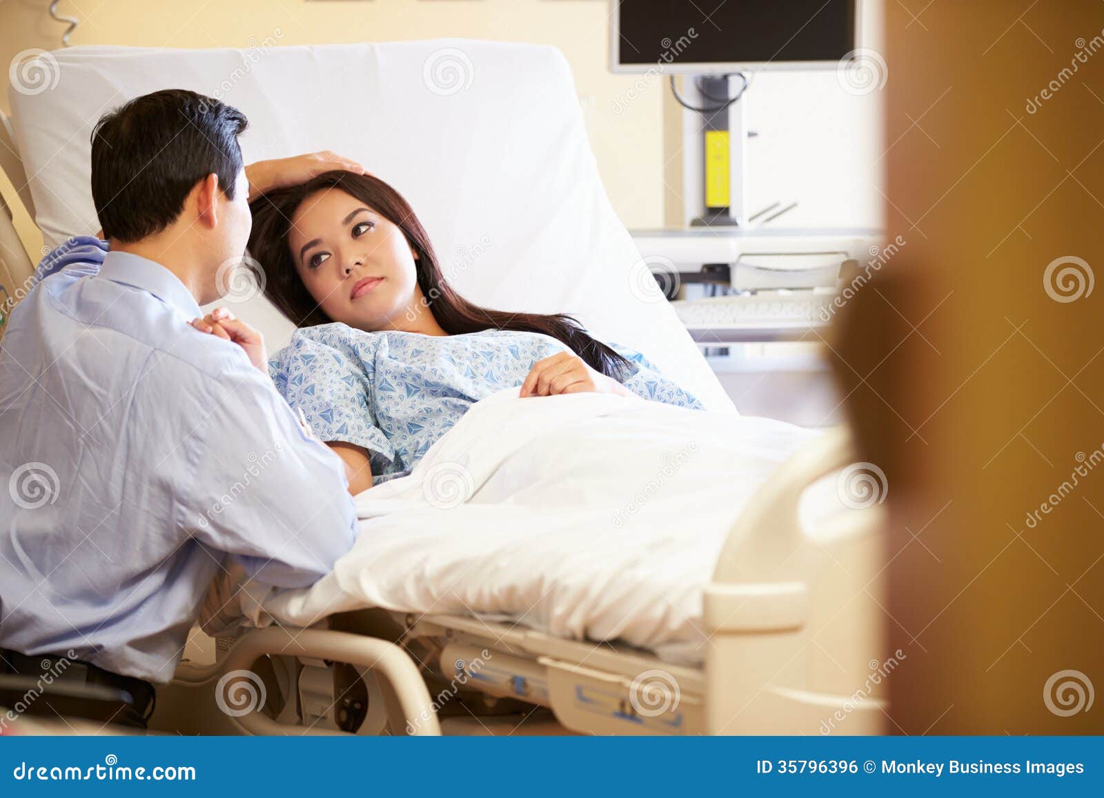
[[[23,164],[2,114],[0,123],[0,167],[33,219]],[[15,286],[32,270],[2,198],[0,266],[0,284]],[[307,629],[269,627],[220,639],[208,664],[185,658],[171,684],[158,689],[151,728],[883,733],[884,675],[895,659],[887,650],[882,508],[847,513],[849,525],[831,534],[809,534],[799,513],[806,488],[854,459],[847,432],[835,429],[785,462],[747,503],[704,586],[701,627],[708,641],[700,668],[519,625],[365,610]]]

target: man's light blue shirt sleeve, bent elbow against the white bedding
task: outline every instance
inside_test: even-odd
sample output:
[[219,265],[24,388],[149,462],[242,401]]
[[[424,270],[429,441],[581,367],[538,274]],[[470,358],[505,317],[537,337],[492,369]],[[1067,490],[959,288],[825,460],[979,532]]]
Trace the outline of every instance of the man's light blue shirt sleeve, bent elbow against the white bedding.
[[187,441],[182,522],[200,542],[237,555],[262,584],[314,584],[354,539],[341,458],[305,434],[255,369],[227,374],[217,396]]

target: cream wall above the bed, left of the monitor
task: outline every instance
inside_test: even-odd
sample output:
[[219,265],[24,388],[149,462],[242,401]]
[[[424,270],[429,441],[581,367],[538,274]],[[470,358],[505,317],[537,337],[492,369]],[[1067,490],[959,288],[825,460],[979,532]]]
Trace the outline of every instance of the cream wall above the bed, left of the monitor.
[[[23,50],[61,45],[64,25],[49,18],[47,6],[47,0],[0,0],[6,68]],[[604,0],[63,0],[59,12],[83,20],[73,45],[247,47],[277,28],[282,45],[435,36],[552,44],[575,74],[591,145],[622,221],[629,227],[662,224],[666,86],[652,82],[626,102],[638,82],[607,68]],[[0,105],[8,110],[7,96]],[[11,189],[0,181],[9,202]],[[22,214],[17,227],[33,258],[41,247],[36,231]]]

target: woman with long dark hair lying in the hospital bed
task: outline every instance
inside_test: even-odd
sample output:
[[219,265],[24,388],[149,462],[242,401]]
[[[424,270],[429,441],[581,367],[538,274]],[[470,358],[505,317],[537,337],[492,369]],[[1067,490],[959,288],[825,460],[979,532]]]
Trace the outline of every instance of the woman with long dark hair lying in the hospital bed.
[[353,493],[407,474],[471,404],[505,387],[701,406],[569,316],[461,298],[411,206],[378,178],[326,172],[251,208],[265,292],[299,328],[272,359],[273,380],[346,461]]

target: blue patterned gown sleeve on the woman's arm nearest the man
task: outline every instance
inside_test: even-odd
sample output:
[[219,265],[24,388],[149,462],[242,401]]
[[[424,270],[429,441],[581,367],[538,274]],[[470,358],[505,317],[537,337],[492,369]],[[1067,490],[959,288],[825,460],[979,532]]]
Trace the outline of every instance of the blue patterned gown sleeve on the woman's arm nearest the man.
[[395,459],[388,436],[372,414],[372,380],[355,347],[308,338],[304,331],[269,362],[269,373],[293,409],[302,412],[321,440],[363,446],[370,453],[372,474],[379,475]]

